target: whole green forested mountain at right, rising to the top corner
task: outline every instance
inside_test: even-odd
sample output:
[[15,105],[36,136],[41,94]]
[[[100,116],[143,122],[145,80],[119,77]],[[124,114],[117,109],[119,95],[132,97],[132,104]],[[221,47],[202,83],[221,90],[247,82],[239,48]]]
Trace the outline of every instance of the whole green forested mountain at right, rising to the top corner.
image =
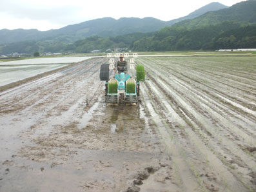
[[256,1],[181,21],[135,41],[137,51],[256,48]]

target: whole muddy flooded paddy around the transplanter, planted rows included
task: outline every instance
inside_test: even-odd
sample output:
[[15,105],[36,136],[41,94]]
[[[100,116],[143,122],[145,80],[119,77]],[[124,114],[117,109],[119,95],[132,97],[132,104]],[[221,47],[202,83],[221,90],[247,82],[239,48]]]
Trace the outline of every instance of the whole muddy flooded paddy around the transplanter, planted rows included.
[[148,80],[123,110],[105,59],[0,92],[0,191],[255,191],[253,59],[137,59]]

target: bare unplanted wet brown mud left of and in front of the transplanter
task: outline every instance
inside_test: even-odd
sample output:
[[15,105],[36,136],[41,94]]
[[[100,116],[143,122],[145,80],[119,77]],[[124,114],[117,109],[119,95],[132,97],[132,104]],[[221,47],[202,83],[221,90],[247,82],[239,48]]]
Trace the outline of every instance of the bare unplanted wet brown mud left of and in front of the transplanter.
[[169,156],[143,104],[104,103],[102,62],[1,92],[0,191],[131,191],[156,171],[168,177]]

